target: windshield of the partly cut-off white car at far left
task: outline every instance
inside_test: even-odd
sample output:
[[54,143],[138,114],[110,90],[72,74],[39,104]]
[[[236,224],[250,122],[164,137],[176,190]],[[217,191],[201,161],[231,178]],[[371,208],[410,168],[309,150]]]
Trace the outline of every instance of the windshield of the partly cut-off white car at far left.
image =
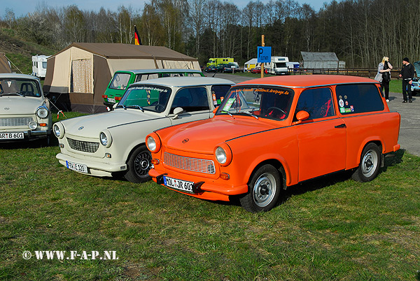
[[0,78],[0,95],[41,96],[36,80]]

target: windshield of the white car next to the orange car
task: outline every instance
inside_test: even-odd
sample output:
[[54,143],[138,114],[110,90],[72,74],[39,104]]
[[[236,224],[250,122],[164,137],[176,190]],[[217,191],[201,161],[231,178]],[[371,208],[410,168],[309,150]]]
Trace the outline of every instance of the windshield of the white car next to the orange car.
[[132,86],[127,89],[117,108],[137,108],[161,113],[165,111],[172,90],[155,85]]

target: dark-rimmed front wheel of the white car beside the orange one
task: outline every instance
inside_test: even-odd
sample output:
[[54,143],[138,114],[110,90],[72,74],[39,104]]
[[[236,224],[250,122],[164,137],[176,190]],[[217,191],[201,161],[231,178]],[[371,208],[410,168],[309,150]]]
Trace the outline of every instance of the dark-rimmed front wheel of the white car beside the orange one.
[[125,172],[125,179],[129,182],[140,183],[151,180],[148,171],[151,169],[152,154],[146,148],[146,145],[137,147],[130,155]]

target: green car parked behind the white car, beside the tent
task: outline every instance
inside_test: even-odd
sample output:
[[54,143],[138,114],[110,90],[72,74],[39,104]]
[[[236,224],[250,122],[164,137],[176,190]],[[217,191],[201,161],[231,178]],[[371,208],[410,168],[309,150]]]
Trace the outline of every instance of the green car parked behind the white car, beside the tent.
[[204,76],[201,71],[194,69],[137,69],[116,71],[102,98],[104,105],[112,110],[115,103],[118,103],[125,93],[125,89],[134,82],[176,76]]

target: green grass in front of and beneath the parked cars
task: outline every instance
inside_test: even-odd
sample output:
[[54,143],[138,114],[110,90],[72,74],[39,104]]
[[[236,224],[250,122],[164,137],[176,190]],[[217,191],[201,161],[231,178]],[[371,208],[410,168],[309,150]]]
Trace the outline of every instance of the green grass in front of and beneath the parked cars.
[[[419,280],[420,157],[403,150],[372,182],[306,182],[258,214],[81,175],[58,152],[0,147],[0,280]],[[118,260],[22,258],[38,250]]]

